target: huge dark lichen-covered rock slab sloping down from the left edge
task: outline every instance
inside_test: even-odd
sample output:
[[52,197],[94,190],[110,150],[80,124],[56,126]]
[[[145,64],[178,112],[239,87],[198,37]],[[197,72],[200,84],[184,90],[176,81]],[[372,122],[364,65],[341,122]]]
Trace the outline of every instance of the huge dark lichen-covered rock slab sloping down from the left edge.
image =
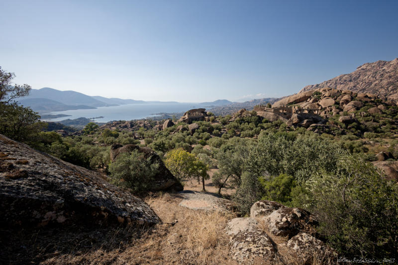
[[153,225],[161,222],[141,199],[98,173],[40,153],[0,135],[0,223]]

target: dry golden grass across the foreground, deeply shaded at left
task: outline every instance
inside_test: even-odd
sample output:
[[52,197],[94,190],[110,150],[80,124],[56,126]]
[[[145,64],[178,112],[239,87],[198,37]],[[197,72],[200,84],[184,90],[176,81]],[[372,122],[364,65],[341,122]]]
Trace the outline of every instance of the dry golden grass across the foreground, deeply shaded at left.
[[[206,213],[181,207],[178,194],[155,194],[145,198],[163,220],[150,230],[134,227],[85,231],[48,230],[16,238],[1,264],[41,265],[223,265],[236,263],[228,257],[228,238],[223,229],[232,213]],[[87,228],[85,228],[87,229]],[[4,231],[2,231],[4,232]],[[0,235],[4,236],[4,235]],[[1,237],[0,237],[1,241]],[[1,243],[1,242],[0,242]],[[5,242],[0,244],[5,246]],[[24,250],[21,250],[24,246]]]

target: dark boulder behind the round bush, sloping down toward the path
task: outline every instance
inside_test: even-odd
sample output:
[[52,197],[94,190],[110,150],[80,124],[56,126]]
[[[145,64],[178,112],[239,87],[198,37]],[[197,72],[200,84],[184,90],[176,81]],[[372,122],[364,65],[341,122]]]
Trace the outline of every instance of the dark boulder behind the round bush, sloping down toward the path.
[[178,181],[176,177],[166,168],[162,159],[150,148],[140,147],[138,145],[120,145],[113,144],[110,147],[110,160],[112,162],[116,161],[117,156],[122,153],[131,153],[134,150],[144,155],[147,159],[151,157],[151,161],[154,163],[159,163],[158,174],[155,175],[152,183],[152,191],[167,190],[167,191],[181,191],[184,189],[183,185]]

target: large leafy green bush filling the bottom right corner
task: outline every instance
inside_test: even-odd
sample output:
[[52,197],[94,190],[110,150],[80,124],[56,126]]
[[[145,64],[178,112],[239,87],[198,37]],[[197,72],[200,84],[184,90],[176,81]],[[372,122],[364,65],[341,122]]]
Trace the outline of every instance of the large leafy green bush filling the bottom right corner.
[[342,157],[334,174],[312,176],[296,202],[318,216],[318,232],[340,255],[397,255],[397,186],[362,158]]

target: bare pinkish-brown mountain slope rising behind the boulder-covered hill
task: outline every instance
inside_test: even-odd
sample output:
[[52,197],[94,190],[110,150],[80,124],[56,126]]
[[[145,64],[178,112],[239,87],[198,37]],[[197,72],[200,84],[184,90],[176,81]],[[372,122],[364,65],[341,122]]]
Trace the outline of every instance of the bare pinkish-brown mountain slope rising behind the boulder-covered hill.
[[316,88],[336,88],[353,92],[373,93],[398,99],[398,58],[393,61],[377,61],[359,66],[350,74],[340,75],[317,85],[309,85],[300,92]]

